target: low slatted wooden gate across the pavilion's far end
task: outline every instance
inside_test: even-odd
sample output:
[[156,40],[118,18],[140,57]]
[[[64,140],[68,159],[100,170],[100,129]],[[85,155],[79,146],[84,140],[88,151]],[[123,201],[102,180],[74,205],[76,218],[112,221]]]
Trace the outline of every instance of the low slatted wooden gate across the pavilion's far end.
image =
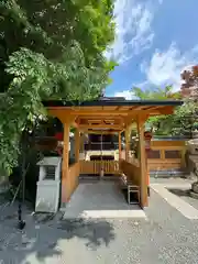
[[80,174],[119,174],[118,161],[80,161]]

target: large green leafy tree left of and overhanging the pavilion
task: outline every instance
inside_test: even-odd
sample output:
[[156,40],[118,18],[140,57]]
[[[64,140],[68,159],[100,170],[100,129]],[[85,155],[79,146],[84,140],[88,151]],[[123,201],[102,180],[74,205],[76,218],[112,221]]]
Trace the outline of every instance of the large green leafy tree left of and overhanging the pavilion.
[[114,63],[111,0],[0,1],[0,168],[15,166],[25,128],[43,99],[97,98]]

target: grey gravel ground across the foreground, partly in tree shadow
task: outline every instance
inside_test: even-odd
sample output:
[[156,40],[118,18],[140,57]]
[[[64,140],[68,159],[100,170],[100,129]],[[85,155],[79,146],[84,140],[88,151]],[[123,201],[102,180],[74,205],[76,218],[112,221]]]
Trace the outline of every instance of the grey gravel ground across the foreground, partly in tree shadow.
[[31,216],[15,229],[16,207],[0,206],[0,264],[197,264],[198,221],[151,191],[147,220],[63,221]]

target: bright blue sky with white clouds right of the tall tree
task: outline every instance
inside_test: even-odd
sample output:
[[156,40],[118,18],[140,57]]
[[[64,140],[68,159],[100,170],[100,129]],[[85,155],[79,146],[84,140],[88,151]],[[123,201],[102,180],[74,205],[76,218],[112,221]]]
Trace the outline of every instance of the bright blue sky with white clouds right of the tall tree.
[[180,87],[180,72],[198,63],[198,0],[116,0],[116,41],[107,52],[119,66],[107,96],[132,98],[133,86]]

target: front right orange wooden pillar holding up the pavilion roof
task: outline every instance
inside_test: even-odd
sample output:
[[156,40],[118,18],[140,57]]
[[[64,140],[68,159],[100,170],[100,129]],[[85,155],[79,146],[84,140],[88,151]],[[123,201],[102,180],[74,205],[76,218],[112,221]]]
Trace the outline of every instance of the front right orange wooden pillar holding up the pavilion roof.
[[141,207],[147,206],[147,179],[146,179],[146,155],[144,144],[144,122],[145,119],[138,118],[138,132],[139,132],[139,153],[140,153],[140,170],[141,170]]

